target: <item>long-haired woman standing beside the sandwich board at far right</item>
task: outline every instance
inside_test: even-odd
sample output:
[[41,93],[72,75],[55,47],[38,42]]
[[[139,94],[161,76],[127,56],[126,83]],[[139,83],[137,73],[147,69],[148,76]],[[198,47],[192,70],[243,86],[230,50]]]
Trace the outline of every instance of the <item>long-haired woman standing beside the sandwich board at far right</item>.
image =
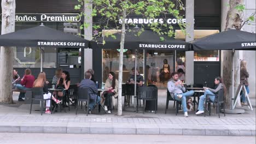
[[[242,60],[240,62],[240,83],[242,83],[243,85],[245,85],[246,87],[246,91],[247,93],[249,94],[249,82],[248,82],[248,77],[249,77],[249,73],[247,71],[247,66],[246,66],[246,61],[245,60]],[[241,93],[241,105],[247,105],[246,104],[246,99],[245,99],[245,94]]]

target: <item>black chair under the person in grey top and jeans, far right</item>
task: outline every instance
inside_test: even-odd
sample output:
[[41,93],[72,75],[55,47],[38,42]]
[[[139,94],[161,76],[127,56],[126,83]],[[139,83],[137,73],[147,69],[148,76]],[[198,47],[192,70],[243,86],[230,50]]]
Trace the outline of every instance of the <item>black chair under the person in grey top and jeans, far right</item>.
[[[205,106],[204,106],[204,111],[205,111],[204,116],[206,115],[206,112],[208,112],[209,115],[211,116],[211,103],[213,103],[213,104],[216,104],[216,112],[218,115],[222,105],[223,111],[224,111],[224,117],[225,117],[226,115],[225,115],[225,106],[224,106],[224,89],[220,89],[218,91],[218,94],[214,94],[215,95],[214,101],[211,101],[210,98],[208,98],[210,95],[212,94],[206,95]],[[207,104],[208,104],[208,110],[207,110]]]

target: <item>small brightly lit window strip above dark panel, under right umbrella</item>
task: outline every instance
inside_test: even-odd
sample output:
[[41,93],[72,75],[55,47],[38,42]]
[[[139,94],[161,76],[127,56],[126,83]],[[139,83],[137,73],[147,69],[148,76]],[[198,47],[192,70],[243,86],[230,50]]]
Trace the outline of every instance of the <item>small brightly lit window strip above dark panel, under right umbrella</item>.
[[194,61],[219,61],[219,50],[195,51]]

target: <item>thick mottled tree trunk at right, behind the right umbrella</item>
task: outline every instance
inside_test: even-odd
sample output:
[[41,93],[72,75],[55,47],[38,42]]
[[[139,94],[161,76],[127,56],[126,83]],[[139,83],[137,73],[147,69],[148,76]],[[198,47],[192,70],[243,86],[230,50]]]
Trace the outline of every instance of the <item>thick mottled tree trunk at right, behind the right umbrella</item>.
[[[241,29],[242,26],[242,14],[239,13],[235,7],[238,4],[243,4],[243,0],[229,0],[229,10],[226,15],[225,31],[231,28],[237,30]],[[231,108],[232,101],[232,63],[234,64],[234,94],[237,91],[238,85],[240,83],[240,52],[235,51],[234,56],[232,56],[232,51],[223,51],[223,79],[226,86],[225,95],[225,105]],[[232,59],[234,58],[234,61]],[[234,95],[235,97],[235,95]],[[238,101],[240,105],[240,101]]]

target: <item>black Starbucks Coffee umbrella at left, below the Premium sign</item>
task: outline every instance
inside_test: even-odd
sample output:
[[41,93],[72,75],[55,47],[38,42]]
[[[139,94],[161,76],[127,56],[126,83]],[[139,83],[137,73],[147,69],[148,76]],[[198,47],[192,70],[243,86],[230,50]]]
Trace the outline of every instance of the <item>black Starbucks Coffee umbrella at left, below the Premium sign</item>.
[[0,35],[1,46],[88,48],[89,41],[46,26]]

